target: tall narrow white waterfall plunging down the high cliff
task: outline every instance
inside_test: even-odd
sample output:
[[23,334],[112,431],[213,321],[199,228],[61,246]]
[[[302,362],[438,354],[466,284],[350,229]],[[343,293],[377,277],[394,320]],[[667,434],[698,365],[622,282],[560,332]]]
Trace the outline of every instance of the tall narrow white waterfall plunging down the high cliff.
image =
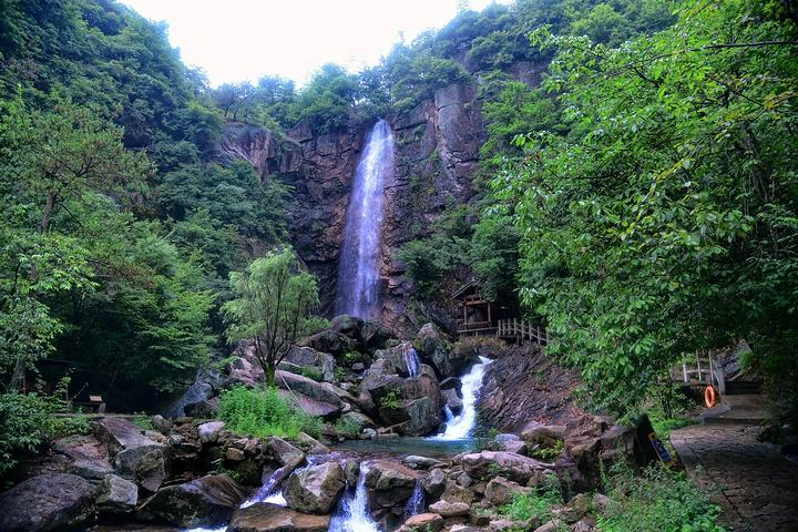
[[347,208],[338,264],[338,314],[368,319],[379,311],[382,194],[393,173],[393,135],[385,120],[369,133]]

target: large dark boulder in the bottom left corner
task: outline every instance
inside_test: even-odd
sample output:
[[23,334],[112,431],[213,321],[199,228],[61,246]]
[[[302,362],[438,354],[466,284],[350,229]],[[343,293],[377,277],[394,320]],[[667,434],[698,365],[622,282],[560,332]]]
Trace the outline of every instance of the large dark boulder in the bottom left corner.
[[0,530],[39,532],[76,528],[94,511],[94,487],[82,477],[33,477],[0,493]]

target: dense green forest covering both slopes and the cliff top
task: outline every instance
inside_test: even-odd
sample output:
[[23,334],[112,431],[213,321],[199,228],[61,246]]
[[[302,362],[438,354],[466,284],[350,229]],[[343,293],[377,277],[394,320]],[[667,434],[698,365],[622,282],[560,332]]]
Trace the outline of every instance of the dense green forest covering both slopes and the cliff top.
[[218,158],[224,123],[356,130],[452,83],[488,139],[474,197],[401,250],[415,297],[473,273],[614,413],[739,338],[794,386],[796,41],[788,0],[518,0],[356,74],[212,89],[116,2],[0,0],[3,386],[57,356],[119,408],[185,387],[226,349],[229,273],[290,241],[290,186]]

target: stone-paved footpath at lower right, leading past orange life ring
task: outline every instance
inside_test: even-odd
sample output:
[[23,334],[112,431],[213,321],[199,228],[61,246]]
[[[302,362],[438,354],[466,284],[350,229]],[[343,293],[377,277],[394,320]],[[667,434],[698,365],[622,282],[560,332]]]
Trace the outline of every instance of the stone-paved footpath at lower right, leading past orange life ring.
[[759,443],[759,427],[696,424],[671,434],[687,473],[724,508],[734,532],[798,531],[798,466]]

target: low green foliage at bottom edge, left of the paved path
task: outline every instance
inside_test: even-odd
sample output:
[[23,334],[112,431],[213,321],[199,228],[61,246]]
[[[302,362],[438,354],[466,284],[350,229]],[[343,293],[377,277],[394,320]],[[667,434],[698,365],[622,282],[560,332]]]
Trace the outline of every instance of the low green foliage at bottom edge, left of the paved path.
[[723,532],[720,509],[681,472],[652,468],[642,477],[628,469],[611,473],[607,495],[617,508],[598,519],[603,532]]

